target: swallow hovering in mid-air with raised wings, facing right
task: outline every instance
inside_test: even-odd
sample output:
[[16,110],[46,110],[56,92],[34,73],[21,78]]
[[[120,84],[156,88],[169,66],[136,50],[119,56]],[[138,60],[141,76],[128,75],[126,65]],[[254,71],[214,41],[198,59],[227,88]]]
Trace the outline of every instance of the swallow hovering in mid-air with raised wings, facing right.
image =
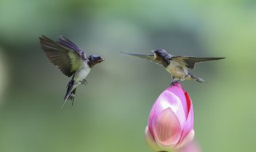
[[72,101],[73,106],[76,88],[80,84],[86,85],[86,76],[89,74],[91,68],[104,61],[104,59],[96,54],[92,54],[87,58],[85,51],[62,36],[57,41],[53,41],[43,35],[39,39],[42,50],[50,62],[54,66],[58,66],[58,69],[66,76],[72,76],[72,79],[67,85],[62,106],[64,106],[67,99]]

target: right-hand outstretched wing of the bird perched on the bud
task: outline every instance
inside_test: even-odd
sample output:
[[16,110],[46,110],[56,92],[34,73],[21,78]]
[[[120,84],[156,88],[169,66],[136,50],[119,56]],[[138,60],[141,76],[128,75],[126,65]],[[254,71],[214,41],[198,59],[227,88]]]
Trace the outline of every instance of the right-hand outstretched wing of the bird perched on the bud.
[[175,56],[172,59],[181,64],[185,63],[187,68],[194,69],[195,64],[198,62],[207,62],[207,61],[219,60],[223,58],[198,58],[198,57]]

